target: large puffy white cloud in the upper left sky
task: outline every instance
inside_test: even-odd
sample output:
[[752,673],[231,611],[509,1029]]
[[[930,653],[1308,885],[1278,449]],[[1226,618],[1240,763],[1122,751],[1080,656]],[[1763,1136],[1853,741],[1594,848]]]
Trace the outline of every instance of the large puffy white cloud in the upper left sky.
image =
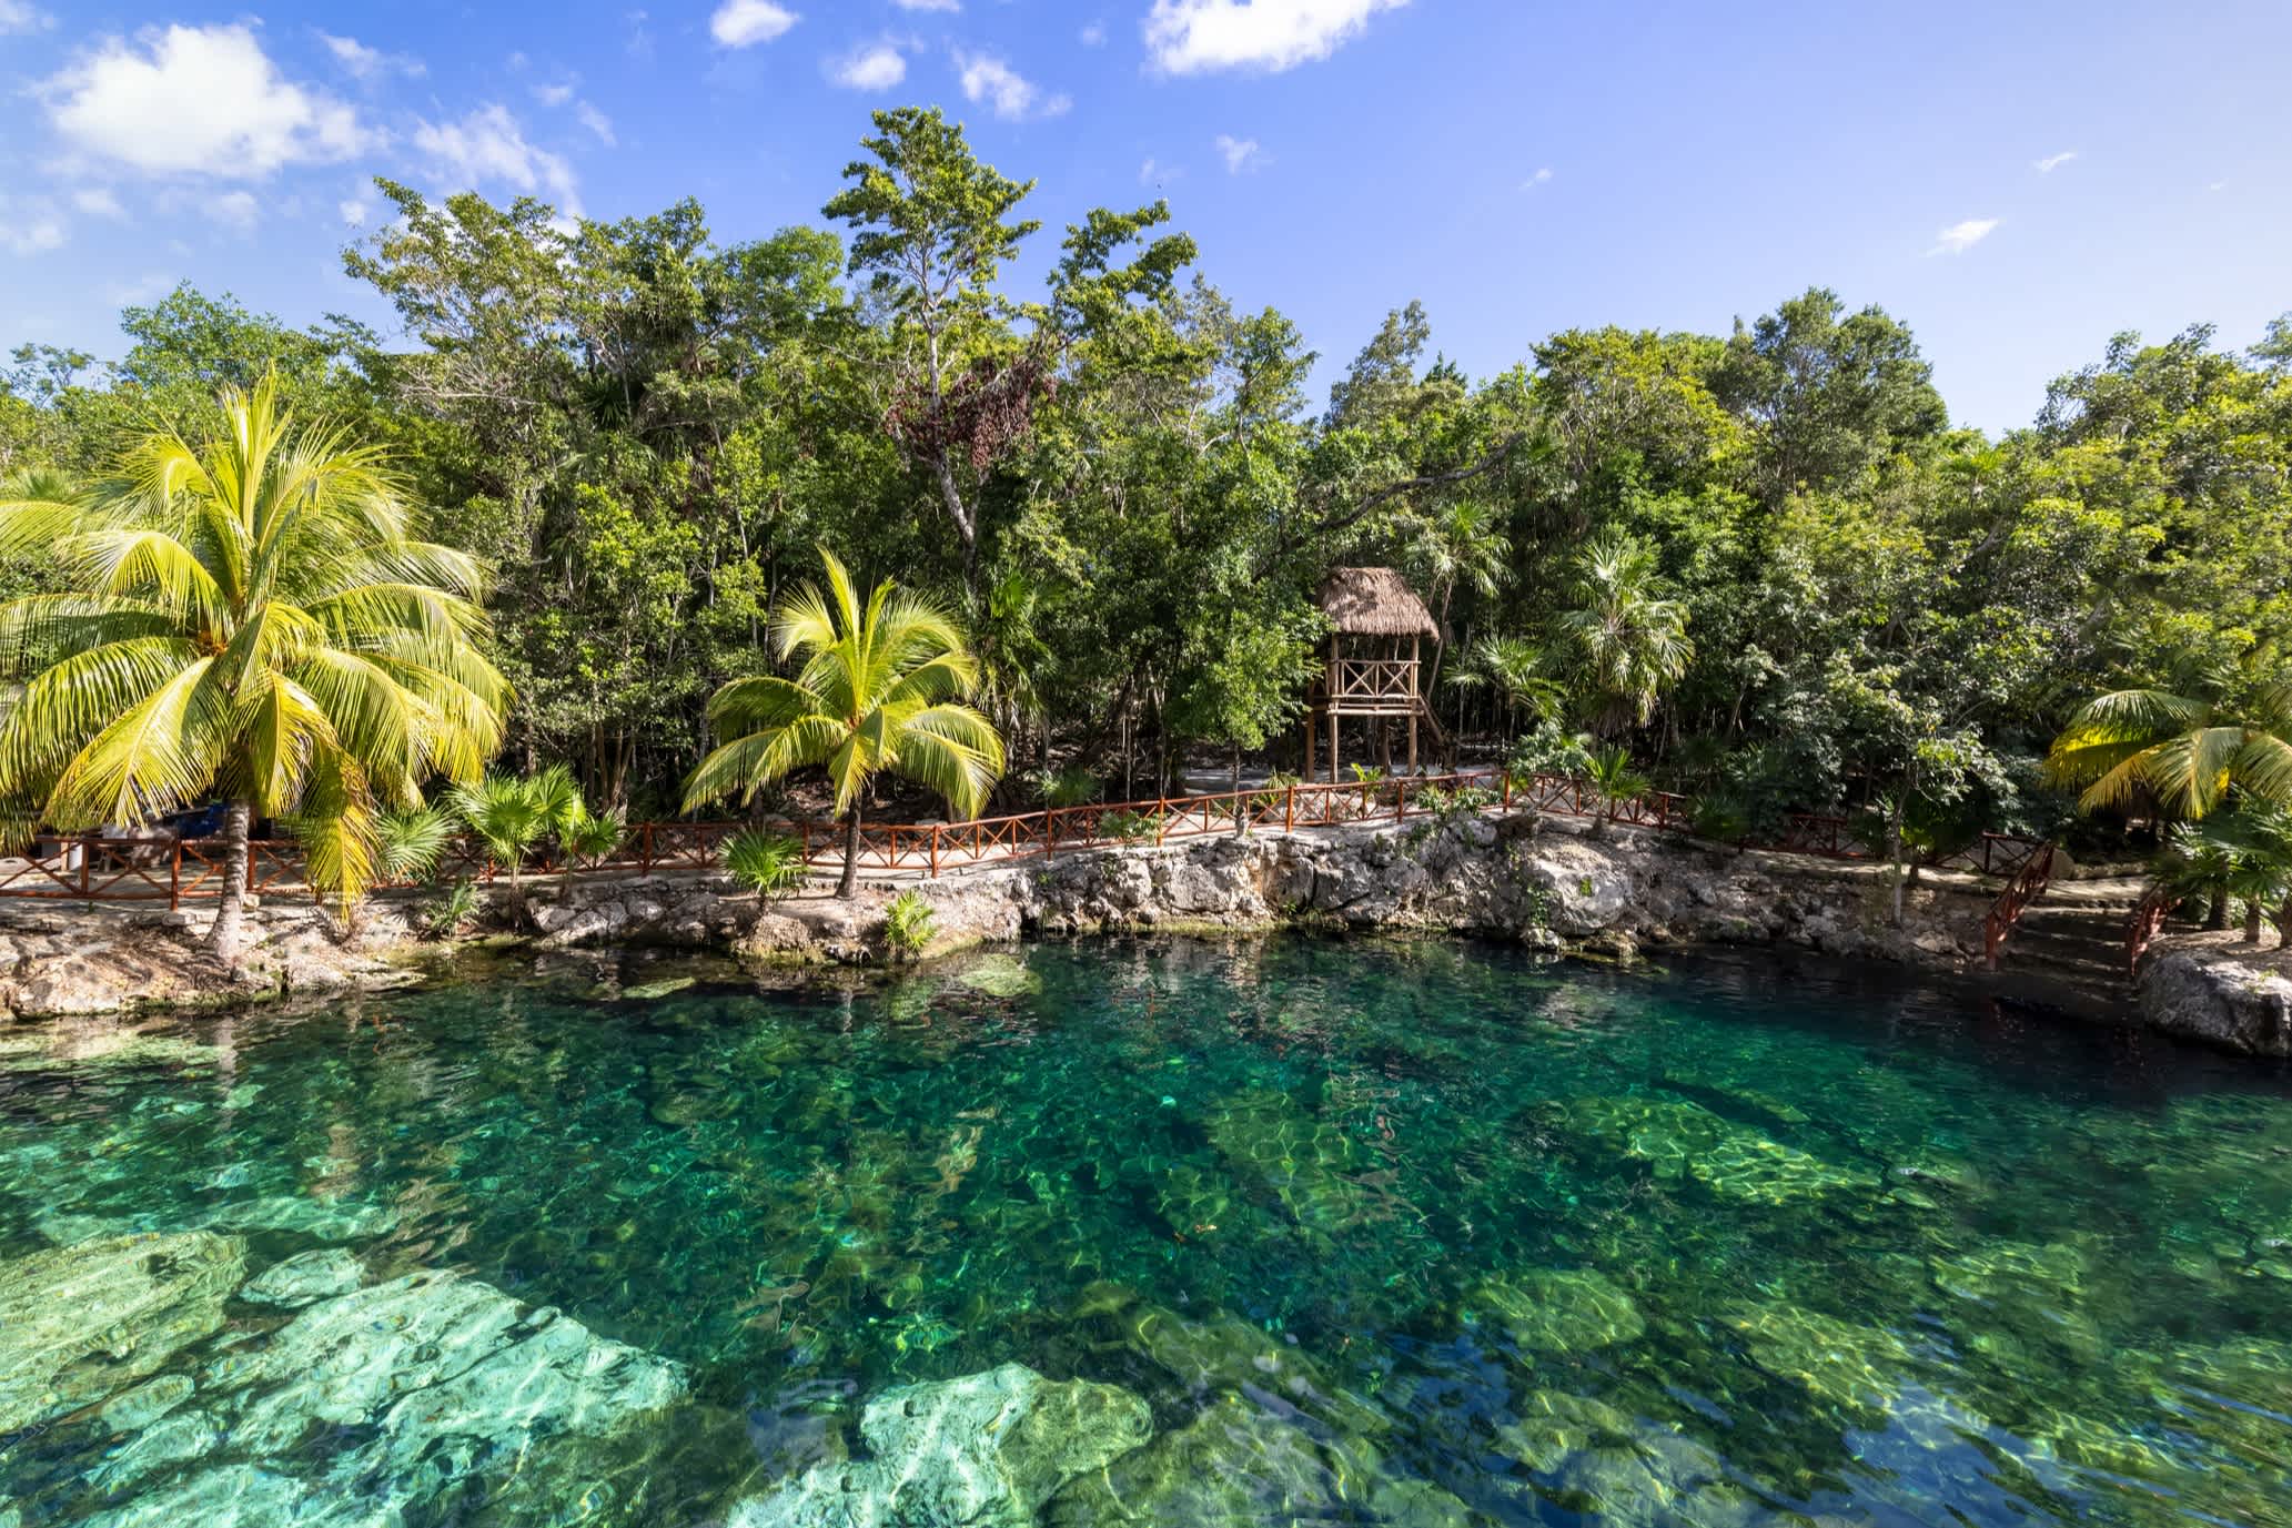
[[367,147],[358,112],[293,85],[243,25],[112,37],[37,92],[73,149],[147,174],[264,179]]

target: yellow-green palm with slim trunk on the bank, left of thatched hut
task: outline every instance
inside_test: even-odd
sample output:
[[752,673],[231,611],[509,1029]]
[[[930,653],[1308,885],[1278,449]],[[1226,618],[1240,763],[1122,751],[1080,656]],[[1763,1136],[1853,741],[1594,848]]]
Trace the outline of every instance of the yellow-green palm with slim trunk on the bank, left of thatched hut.
[[1004,767],[995,726],[960,701],[979,687],[963,632],[933,602],[876,584],[866,607],[825,548],[827,593],[807,584],[772,621],[795,678],[736,678],[708,701],[720,747],[685,781],[685,811],[729,795],[749,800],[804,765],[827,765],[846,816],[843,882],[859,893],[859,804],[880,772],[935,790],[972,816]]

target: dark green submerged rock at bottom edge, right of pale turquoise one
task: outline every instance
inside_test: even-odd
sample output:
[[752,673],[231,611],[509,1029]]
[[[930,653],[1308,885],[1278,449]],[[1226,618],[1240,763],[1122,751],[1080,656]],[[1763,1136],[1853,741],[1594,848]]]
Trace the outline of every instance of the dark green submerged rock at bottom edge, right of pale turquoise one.
[[1047,1528],[1465,1528],[1469,1521],[1449,1491],[1387,1473],[1368,1443],[1318,1439],[1233,1395],[1077,1480],[1043,1512]]

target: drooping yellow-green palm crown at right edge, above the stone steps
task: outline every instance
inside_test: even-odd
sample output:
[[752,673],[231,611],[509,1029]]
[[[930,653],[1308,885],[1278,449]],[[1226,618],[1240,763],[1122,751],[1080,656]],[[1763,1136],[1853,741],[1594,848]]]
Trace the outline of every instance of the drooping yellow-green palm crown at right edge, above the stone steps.
[[2070,717],[2044,770],[2063,786],[2083,786],[2083,811],[2148,797],[2166,816],[2198,820],[2232,786],[2292,804],[2292,685],[2262,685],[2248,706],[2113,690]]

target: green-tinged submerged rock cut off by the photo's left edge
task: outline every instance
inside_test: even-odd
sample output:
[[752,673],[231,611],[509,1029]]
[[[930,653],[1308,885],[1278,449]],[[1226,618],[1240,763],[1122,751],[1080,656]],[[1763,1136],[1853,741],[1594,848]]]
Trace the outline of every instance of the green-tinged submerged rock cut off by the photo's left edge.
[[0,1262],[0,1432],[117,1395],[222,1326],[245,1246],[126,1235]]

